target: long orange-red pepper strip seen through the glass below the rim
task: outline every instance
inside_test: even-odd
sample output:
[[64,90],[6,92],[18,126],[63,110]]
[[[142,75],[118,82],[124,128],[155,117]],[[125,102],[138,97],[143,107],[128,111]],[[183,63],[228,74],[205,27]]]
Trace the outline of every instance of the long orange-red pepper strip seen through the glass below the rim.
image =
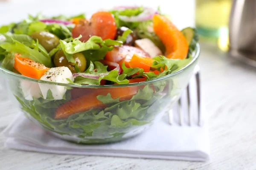
[[[93,93],[85,94],[84,96],[80,96],[77,99],[73,99],[70,102],[61,105],[55,111],[55,119],[67,118],[74,113],[89,111],[91,108],[106,108],[107,105],[97,99],[98,95],[106,96],[109,93],[111,94],[112,99],[119,98],[119,101],[124,101],[131,99],[134,94],[137,94],[139,89],[140,86],[94,90],[95,92]],[[85,91],[86,90],[87,89],[85,89]]]

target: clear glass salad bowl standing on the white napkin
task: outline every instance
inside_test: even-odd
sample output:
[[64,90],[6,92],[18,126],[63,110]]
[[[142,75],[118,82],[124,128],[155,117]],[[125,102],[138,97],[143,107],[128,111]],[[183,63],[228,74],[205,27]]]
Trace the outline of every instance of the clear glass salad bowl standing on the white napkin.
[[[23,113],[53,135],[72,142],[97,144],[117,142],[135,136],[157,121],[186,88],[198,62],[199,45],[192,61],[181,70],[164,77],[127,85],[68,85],[24,77],[0,67],[1,77],[20,103]],[[35,94],[38,84],[65,89],[65,99],[43,99]],[[29,97],[27,92],[37,96]],[[109,94],[110,95],[109,95]],[[112,99],[115,94],[127,94]],[[29,99],[30,98],[30,99]],[[37,98],[37,99],[36,99]],[[93,108],[93,102],[98,102]],[[60,110],[73,110],[90,103],[88,111],[56,116]]]

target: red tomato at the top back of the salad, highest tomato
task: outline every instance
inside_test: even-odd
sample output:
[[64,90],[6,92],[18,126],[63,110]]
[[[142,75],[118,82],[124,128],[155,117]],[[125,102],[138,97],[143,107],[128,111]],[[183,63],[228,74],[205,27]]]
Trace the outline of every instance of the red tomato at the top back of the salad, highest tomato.
[[72,30],[73,37],[82,37],[80,41],[86,42],[93,35],[102,37],[103,40],[116,37],[116,22],[113,15],[106,11],[99,11],[92,15],[90,21],[80,22]]

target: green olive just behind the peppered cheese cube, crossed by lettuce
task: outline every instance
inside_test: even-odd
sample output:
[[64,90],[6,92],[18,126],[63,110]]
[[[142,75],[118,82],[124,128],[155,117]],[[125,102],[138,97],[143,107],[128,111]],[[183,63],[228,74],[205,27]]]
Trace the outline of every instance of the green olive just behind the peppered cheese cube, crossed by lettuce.
[[58,51],[53,59],[54,65],[56,67],[65,66],[70,69],[72,73],[76,73],[74,65],[77,64],[80,72],[84,72],[86,68],[86,59],[82,53],[73,54],[75,63],[68,62],[67,58],[62,50]]

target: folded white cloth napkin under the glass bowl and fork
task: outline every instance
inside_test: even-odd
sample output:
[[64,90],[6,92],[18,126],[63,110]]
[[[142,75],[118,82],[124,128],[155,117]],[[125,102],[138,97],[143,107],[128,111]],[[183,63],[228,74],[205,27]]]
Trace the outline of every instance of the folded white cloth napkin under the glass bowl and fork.
[[[192,106],[196,107],[193,103]],[[197,117],[197,114],[193,117]],[[7,137],[5,146],[17,150],[187,161],[209,160],[207,120],[204,119],[204,124],[200,127],[195,123],[191,127],[177,124],[171,126],[167,114],[144,133],[111,144],[84,145],[58,139],[30,122],[23,113],[17,115],[3,134]]]

